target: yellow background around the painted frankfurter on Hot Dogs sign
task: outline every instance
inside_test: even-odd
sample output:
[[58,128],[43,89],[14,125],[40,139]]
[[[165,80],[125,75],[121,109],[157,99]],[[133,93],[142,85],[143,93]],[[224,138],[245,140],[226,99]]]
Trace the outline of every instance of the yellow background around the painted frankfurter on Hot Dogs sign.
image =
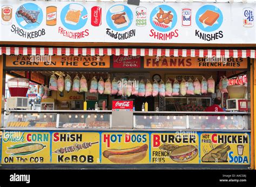
[[[129,140],[127,135],[130,135],[131,141],[125,142],[125,139]],[[104,137],[109,136],[110,141],[104,141]],[[119,138],[120,137],[120,138]],[[111,141],[111,139],[113,141]],[[106,139],[107,140],[107,139]],[[116,140],[116,141],[114,141]],[[132,140],[135,140],[134,142]],[[109,146],[107,146],[109,143]],[[103,164],[115,164],[109,159],[104,157],[103,152],[108,149],[130,149],[137,146],[147,145],[146,156],[141,161],[134,164],[149,163],[149,133],[102,133],[102,163]],[[122,164],[122,163],[121,163]],[[125,164],[125,163],[124,163]]]

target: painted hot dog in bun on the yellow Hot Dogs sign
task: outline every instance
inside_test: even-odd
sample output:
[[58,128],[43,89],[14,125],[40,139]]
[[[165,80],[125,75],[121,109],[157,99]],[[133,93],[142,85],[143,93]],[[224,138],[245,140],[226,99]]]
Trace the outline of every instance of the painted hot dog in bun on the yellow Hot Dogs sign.
[[136,163],[144,159],[148,146],[133,147],[129,149],[108,149],[103,152],[103,156],[113,163],[127,164]]

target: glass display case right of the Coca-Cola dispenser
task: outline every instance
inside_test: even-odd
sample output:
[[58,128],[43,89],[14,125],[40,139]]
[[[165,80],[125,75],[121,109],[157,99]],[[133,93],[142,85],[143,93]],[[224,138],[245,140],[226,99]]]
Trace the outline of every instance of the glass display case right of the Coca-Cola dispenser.
[[247,130],[247,112],[134,112],[134,128]]

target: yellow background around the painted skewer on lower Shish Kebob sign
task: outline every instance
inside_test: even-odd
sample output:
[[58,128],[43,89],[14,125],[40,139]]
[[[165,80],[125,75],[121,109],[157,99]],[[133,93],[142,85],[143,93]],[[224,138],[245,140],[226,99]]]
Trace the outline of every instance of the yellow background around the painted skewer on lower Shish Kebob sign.
[[[58,136],[57,136],[58,135]],[[63,137],[70,138],[75,137],[75,141],[55,141],[57,140],[56,137]],[[82,138],[80,138],[82,135]],[[77,139],[77,137],[79,139]],[[82,145],[84,142],[98,142],[96,144],[91,145],[86,149],[82,148],[78,151],[57,154],[54,153],[56,150],[60,148],[65,148],[69,146],[74,146],[75,143],[78,145]],[[71,164],[97,164],[100,163],[99,159],[99,133],[91,133],[91,132],[53,132],[52,133],[52,163],[71,163]],[[58,161],[59,156],[59,161]],[[73,161],[72,161],[73,156]],[[93,158],[92,158],[93,157]],[[79,160],[80,158],[80,160]],[[77,160],[77,161],[76,161]]]

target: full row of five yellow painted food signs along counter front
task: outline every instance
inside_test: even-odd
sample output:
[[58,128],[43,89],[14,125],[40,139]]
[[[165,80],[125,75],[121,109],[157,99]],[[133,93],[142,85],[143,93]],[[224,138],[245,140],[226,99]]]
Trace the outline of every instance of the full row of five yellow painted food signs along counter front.
[[[51,142],[51,143],[50,143]],[[250,134],[4,132],[2,164],[250,165]]]

